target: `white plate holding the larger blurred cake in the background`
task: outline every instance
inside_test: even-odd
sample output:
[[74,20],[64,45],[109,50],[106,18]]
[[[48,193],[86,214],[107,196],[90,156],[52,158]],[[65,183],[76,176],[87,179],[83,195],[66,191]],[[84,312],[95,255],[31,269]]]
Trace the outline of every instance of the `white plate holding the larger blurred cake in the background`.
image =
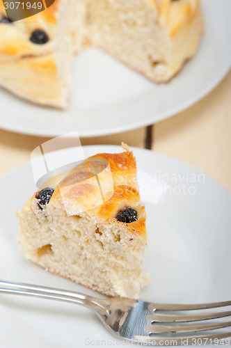
[[58,136],[100,136],[143,127],[186,109],[225,77],[231,64],[230,0],[201,0],[205,34],[196,57],[169,84],[154,84],[98,49],[74,61],[70,106],[57,111],[0,91],[0,127]]

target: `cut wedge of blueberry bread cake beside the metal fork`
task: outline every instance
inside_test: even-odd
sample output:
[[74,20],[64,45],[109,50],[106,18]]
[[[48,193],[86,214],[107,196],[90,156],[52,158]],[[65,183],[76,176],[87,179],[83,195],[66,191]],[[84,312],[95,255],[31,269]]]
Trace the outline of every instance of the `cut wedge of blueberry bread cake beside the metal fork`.
[[109,296],[136,298],[147,243],[136,160],[99,154],[48,180],[18,211],[19,248],[54,274]]

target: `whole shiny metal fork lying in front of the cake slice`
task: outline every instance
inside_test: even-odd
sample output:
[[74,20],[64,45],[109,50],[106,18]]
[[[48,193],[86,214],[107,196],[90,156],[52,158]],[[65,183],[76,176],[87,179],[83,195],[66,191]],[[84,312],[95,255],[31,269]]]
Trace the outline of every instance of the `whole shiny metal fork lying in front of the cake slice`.
[[[127,342],[143,342],[144,345],[170,345],[173,342],[172,345],[185,345],[186,340],[187,344],[196,345],[200,342],[200,345],[205,345],[231,337],[231,329],[221,332],[221,329],[231,327],[231,321],[214,320],[231,317],[231,301],[175,305],[125,298],[98,299],[79,292],[3,280],[0,280],[0,293],[56,299],[92,308],[111,332]],[[214,311],[221,307],[228,307],[228,310]],[[213,313],[207,313],[208,308],[214,308]],[[195,314],[196,310],[200,310],[200,313]],[[217,330],[216,334],[212,334],[212,330]]]

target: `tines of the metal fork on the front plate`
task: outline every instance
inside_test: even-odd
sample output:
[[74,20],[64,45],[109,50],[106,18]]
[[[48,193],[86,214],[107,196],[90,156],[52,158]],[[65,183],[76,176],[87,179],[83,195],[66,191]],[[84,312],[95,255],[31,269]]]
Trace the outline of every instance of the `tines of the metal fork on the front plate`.
[[[223,310],[219,310],[222,307]],[[227,310],[225,310],[226,308]],[[198,339],[206,339],[209,343],[231,336],[231,329],[229,329],[231,318],[228,319],[231,317],[231,301],[196,305],[153,303],[149,305],[148,309],[152,314],[147,317],[148,325],[145,327],[145,332],[152,338],[156,335],[165,335],[165,338],[166,335],[169,337],[181,336],[182,339],[187,337],[188,343]],[[208,312],[208,310],[210,311]],[[191,313],[192,311],[193,313]],[[218,319],[220,320],[218,321]],[[221,319],[225,319],[225,321]],[[176,343],[180,344],[180,340],[181,338],[177,338]],[[229,340],[227,340],[227,345],[228,342]]]

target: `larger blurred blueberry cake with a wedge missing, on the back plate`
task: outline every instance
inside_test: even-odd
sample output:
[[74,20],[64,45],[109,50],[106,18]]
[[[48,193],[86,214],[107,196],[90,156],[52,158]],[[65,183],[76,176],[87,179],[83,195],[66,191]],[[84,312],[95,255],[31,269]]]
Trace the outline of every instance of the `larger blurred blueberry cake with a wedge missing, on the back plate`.
[[0,33],[0,86],[65,108],[74,53],[95,45],[166,82],[196,53],[202,16],[199,0],[56,0],[10,23],[0,1]]

